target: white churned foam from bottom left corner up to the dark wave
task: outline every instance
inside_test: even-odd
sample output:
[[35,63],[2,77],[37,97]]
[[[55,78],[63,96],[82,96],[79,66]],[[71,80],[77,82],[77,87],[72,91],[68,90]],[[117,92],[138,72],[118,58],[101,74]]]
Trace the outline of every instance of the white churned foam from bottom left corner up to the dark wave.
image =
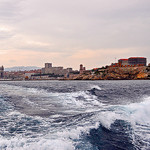
[[44,137],[23,138],[16,136],[11,139],[0,137],[0,149],[6,150],[74,150],[74,139],[79,139],[81,133],[88,133],[90,129],[98,128],[99,123],[84,122],[81,126],[62,128]]

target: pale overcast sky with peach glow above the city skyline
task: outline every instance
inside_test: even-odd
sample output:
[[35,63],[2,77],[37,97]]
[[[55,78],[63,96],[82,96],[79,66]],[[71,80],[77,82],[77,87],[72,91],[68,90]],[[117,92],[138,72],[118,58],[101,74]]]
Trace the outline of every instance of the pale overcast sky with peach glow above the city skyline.
[[150,0],[0,0],[0,65],[150,62]]

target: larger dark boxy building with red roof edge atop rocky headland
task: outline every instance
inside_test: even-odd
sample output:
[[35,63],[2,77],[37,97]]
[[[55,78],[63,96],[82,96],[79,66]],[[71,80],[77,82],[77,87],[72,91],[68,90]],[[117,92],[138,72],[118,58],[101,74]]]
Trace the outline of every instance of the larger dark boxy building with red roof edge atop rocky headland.
[[129,65],[143,65],[146,66],[147,59],[145,57],[130,57],[128,59]]

